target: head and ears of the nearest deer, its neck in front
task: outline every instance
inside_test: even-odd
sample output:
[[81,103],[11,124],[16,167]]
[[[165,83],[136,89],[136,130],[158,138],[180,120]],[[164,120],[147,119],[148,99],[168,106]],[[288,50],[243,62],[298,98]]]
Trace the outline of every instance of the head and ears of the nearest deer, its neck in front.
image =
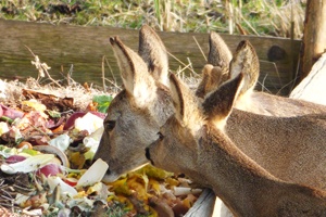
[[[214,122],[222,123],[216,126],[221,126],[223,130],[241,87],[242,74],[231,82],[223,85],[216,93],[210,94],[203,103],[206,110],[201,108],[198,99],[175,75],[172,74],[170,78],[176,113],[161,127],[160,138],[147,149],[146,154],[154,166],[170,171],[191,174],[190,177],[201,180],[197,168],[202,162],[198,156],[201,152],[198,140],[204,133],[202,128],[206,123]],[[211,106],[212,103],[216,106]]]

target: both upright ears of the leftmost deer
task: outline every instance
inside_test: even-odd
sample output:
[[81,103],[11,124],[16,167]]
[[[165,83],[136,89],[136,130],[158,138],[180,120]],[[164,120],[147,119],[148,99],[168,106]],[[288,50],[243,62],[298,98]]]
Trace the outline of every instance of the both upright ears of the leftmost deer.
[[118,37],[110,38],[125,89],[139,104],[155,93],[155,80],[168,85],[166,49],[156,33],[147,25],[139,31],[138,53],[126,47]]

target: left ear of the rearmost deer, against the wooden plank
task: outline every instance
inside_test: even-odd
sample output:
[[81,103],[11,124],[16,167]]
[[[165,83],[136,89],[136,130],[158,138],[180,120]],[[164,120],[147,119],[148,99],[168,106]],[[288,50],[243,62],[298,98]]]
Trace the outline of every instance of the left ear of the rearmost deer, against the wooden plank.
[[210,52],[208,63],[213,66],[228,68],[233,54],[222,37],[212,31],[210,34]]

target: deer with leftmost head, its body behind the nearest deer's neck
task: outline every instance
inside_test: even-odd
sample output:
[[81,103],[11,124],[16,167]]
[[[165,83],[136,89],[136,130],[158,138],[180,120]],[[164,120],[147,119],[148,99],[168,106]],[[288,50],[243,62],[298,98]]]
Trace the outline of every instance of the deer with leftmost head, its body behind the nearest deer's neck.
[[[159,37],[152,29],[143,26],[139,38],[153,41],[147,43],[148,50],[156,49],[148,51],[150,58],[147,60],[151,60],[148,63],[166,64],[162,61],[166,59],[160,58],[166,55],[165,48],[155,42]],[[111,102],[104,119],[105,130],[95,155],[95,159],[102,158],[109,164],[105,181],[113,181],[147,164],[145,148],[156,140],[158,129],[174,114],[170,89],[154,79],[150,69],[167,66],[150,66],[118,38],[111,38],[110,42],[125,90]],[[167,72],[156,72],[158,77],[167,78]],[[324,116],[273,117],[233,110],[225,122],[226,118],[222,118],[215,124],[224,127],[236,145],[271,174],[287,181],[326,189]]]

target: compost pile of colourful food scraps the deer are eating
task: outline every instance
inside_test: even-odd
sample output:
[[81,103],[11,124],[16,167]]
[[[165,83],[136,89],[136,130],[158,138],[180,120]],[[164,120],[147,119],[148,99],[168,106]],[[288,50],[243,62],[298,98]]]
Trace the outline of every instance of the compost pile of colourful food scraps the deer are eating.
[[0,80],[0,216],[180,216],[201,190],[151,166],[112,183],[92,157],[115,93]]

